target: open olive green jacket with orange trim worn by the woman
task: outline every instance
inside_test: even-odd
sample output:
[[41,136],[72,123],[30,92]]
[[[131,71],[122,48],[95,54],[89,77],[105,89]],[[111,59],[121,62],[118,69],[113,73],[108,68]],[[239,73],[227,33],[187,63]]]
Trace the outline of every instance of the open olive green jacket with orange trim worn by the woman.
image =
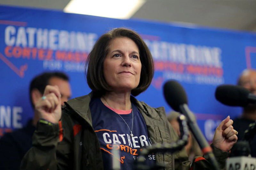
[[[92,95],[91,92],[65,103],[59,125],[40,122],[37,124],[33,146],[21,162],[21,170],[103,169],[100,144],[92,128],[93,113],[89,108]],[[131,100],[145,120],[152,144],[178,140],[177,134],[167,121],[164,107],[149,107],[133,97]],[[223,158],[224,161],[227,158],[220,151],[217,156],[221,157],[222,164]],[[185,149],[175,154],[156,154],[156,162],[164,164],[166,170],[188,170],[190,166]]]

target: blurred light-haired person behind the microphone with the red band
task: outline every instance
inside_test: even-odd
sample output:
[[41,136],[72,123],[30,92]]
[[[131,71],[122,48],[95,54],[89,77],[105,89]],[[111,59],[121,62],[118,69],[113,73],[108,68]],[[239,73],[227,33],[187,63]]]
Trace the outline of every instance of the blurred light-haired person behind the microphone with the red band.
[[[177,118],[180,116],[179,112],[171,111],[167,115],[168,121],[171,123],[173,129],[180,137],[180,124],[177,120]],[[193,136],[193,134],[189,131],[189,137],[188,137],[188,144],[185,146],[185,149],[188,154],[188,160],[190,162],[193,162],[194,158],[197,156],[203,156],[203,153],[199,147],[199,144],[196,141],[196,138]]]

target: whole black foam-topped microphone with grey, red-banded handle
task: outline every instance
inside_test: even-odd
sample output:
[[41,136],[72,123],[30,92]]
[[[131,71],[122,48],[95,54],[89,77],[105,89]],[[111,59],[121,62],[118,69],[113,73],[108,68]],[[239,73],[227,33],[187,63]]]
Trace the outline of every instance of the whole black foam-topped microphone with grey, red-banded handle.
[[173,110],[178,111],[187,117],[188,126],[195,136],[205,157],[210,161],[213,169],[219,169],[217,160],[212,153],[212,148],[198,127],[195,115],[188,108],[188,99],[183,87],[174,80],[166,82],[164,84],[164,97]]

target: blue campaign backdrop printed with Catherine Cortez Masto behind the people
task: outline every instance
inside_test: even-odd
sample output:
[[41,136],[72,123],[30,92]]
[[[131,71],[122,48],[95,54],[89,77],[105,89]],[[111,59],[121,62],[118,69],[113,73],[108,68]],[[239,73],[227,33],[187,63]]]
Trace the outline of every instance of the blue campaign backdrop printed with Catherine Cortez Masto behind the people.
[[43,71],[66,72],[72,98],[89,93],[85,59],[97,38],[112,28],[140,33],[154,57],[153,81],[137,99],[164,106],[168,113],[162,86],[177,80],[208,141],[222,119],[241,113],[241,108],[215,99],[216,87],[236,84],[242,70],[256,68],[255,33],[9,6],[0,11],[0,135],[21,128],[33,116],[28,86]]

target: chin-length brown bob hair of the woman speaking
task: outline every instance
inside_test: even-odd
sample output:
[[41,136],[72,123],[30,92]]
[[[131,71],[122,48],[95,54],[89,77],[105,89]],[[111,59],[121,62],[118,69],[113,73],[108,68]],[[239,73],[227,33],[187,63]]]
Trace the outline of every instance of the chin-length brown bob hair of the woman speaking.
[[[95,43],[92,51],[88,55],[87,65],[87,83],[94,92],[105,92],[109,86],[103,75],[103,61],[109,52],[109,42],[120,37],[127,37],[135,42],[139,48],[140,61],[142,64],[140,83],[138,87],[132,90],[132,95],[137,96],[145,91],[151,83],[154,76],[154,61],[146,43],[135,31],[126,28],[116,28],[103,34]],[[95,66],[99,67],[95,67]]]

